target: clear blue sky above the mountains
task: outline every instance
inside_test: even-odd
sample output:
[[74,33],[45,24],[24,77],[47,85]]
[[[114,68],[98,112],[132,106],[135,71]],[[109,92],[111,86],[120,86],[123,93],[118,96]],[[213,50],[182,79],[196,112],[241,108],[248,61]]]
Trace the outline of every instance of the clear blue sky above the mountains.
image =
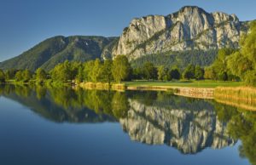
[[256,0],[0,0],[0,61],[57,35],[120,36],[133,18],[188,5],[256,19]]

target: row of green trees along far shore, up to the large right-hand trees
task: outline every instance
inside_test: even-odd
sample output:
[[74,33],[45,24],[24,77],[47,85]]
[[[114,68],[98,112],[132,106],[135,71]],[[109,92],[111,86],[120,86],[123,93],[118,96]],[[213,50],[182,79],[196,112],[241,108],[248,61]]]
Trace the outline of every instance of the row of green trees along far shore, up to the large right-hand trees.
[[38,68],[34,73],[28,70],[0,70],[0,81],[2,83],[9,80],[21,83],[44,83],[45,81],[67,83],[72,80],[76,83],[121,83],[122,81],[131,80],[171,81],[179,80],[182,77],[203,79],[204,69],[199,65],[189,65],[181,72],[177,66],[168,68],[164,65],[155,66],[151,62],[145,62],[141,67],[132,68],[127,57],[119,55],[114,60],[101,61],[96,59],[84,63],[66,60],[64,63],[56,65],[49,72],[42,68]]

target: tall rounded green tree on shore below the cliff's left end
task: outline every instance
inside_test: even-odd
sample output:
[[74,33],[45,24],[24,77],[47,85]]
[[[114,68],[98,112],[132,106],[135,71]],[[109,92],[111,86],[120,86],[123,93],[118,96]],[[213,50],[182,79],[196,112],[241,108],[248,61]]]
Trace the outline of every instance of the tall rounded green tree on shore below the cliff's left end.
[[125,80],[125,78],[129,77],[131,72],[131,65],[125,55],[118,55],[113,60],[113,67],[112,67],[112,73],[113,73],[113,79],[121,83],[122,80]]

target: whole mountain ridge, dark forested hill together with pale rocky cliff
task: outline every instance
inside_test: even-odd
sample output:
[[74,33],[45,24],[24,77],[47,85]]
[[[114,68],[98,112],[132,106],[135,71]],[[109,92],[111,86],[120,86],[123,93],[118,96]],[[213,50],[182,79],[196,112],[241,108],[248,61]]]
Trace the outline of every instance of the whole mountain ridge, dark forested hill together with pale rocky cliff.
[[[169,61],[167,65],[180,63],[184,67],[191,60],[195,65],[210,65],[218,48],[238,48],[239,39],[247,33],[249,22],[239,21],[235,14],[207,13],[196,6],[185,6],[166,16],[148,15],[131,20],[120,37],[49,38],[25,53],[3,61],[0,69],[35,71],[43,67],[49,71],[64,60],[109,59],[119,54],[125,54],[129,60],[139,60],[134,62],[139,65],[144,60],[140,58],[153,54],[148,59],[169,55],[165,57]],[[200,53],[194,57],[197,51]],[[185,55],[179,55],[180,52],[185,52]],[[172,60],[172,54],[175,60]]]

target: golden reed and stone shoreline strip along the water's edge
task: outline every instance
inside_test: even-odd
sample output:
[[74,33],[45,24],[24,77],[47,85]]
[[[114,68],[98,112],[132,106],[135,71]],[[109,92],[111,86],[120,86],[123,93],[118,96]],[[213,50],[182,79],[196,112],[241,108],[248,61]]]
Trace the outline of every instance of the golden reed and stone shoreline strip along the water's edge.
[[[29,85],[29,83],[2,83],[13,85]],[[32,83],[33,85],[37,85]],[[63,83],[63,87],[71,87],[73,89],[89,89],[89,90],[114,90],[119,92],[130,91],[166,91],[177,96],[203,99],[203,100],[215,100],[219,103],[226,105],[233,105],[246,109],[248,111],[256,111],[256,88],[253,87],[181,87],[171,86],[172,83],[166,83],[167,85],[135,85],[127,83]],[[45,84],[51,87],[55,86],[55,83]]]

